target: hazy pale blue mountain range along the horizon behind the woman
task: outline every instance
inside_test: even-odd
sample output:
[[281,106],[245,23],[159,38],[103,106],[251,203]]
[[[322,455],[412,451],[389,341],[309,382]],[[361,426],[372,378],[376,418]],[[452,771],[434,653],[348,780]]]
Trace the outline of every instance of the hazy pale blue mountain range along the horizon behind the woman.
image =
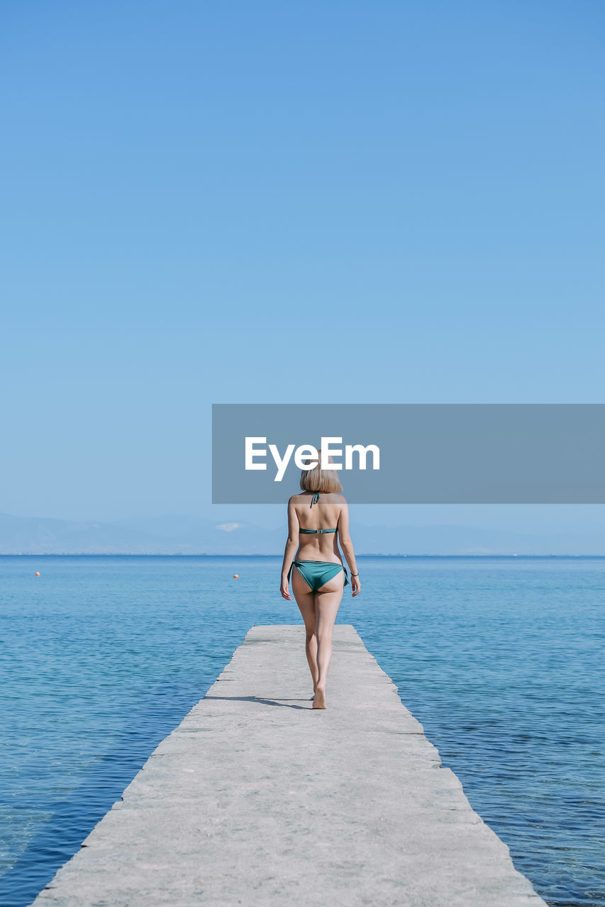
[[[282,554],[286,529],[193,516],[78,522],[0,513],[0,554]],[[471,526],[352,527],[359,554],[600,554],[605,529],[530,535]]]

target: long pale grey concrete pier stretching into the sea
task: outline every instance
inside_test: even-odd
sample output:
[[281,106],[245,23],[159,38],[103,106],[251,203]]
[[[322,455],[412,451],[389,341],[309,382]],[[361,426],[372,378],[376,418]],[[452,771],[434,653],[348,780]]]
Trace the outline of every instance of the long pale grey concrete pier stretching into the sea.
[[35,907],[538,907],[355,629],[255,626]]

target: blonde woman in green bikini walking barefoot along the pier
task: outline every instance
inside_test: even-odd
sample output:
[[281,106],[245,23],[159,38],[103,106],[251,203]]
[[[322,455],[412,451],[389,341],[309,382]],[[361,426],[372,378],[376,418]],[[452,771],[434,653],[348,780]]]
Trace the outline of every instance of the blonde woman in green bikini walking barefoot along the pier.
[[[342,590],[349,584],[338,548],[351,570],[353,596],[361,590],[349,535],[349,507],[335,470],[322,470],[319,463],[302,470],[302,494],[288,502],[288,541],[283,553],[282,587],[284,599],[301,610],[306,630],[305,650],[313,678],[313,708],[325,708],[325,685],[332,660],[332,630]],[[294,568],[294,569],[293,569]]]

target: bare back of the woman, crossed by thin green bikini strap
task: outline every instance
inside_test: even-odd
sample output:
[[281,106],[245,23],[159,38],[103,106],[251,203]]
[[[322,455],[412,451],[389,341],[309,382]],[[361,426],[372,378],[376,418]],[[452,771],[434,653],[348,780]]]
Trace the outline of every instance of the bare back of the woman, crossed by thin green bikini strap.
[[[338,529],[343,509],[344,495],[322,492],[320,500],[312,504],[312,492],[294,494],[291,506],[298,518],[300,529]],[[338,547],[338,532],[316,532],[299,535],[297,561],[331,561],[342,563]]]

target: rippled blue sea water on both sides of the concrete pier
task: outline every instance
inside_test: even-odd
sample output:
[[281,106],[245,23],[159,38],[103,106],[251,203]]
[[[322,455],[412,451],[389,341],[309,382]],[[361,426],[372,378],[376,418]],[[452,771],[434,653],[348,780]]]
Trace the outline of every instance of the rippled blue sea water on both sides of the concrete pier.
[[[536,891],[603,907],[605,559],[359,562],[338,622]],[[302,623],[280,564],[0,558],[0,903],[34,899],[253,624]]]

